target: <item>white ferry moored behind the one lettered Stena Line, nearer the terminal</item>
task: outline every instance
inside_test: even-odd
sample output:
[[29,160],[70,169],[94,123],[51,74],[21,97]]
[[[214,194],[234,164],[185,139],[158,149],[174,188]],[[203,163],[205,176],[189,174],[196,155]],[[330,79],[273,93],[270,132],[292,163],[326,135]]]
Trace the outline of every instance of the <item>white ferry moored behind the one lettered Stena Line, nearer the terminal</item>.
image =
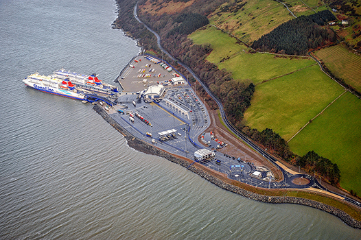
[[104,93],[106,95],[117,95],[119,93],[116,86],[103,83],[102,80],[97,78],[97,74],[84,75],[60,69],[55,71],[52,77],[60,80],[69,80],[78,88],[91,91],[92,93]]

